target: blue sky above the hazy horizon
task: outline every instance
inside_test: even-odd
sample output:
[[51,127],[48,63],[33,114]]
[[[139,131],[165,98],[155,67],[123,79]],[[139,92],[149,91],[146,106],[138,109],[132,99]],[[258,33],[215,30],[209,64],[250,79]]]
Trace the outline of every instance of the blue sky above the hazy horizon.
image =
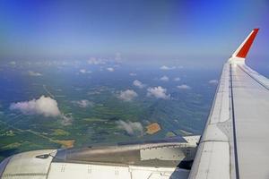
[[268,0],[0,0],[0,57],[229,57],[254,28],[269,57],[268,17]]

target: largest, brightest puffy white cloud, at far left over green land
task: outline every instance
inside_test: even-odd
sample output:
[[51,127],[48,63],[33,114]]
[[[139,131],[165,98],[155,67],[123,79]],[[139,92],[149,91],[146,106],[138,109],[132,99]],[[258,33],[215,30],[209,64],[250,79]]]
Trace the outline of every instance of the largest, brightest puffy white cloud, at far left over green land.
[[30,101],[12,103],[10,109],[19,110],[25,115],[44,115],[47,117],[61,115],[56,100],[45,96]]

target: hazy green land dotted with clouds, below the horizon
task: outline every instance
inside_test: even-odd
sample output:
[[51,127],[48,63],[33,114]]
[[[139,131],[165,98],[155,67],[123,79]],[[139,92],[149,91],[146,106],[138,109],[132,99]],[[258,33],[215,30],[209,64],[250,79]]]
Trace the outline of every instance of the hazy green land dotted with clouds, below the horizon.
[[218,82],[211,77],[219,73],[188,77],[194,70],[178,64],[130,66],[115,58],[2,66],[1,158],[201,134]]

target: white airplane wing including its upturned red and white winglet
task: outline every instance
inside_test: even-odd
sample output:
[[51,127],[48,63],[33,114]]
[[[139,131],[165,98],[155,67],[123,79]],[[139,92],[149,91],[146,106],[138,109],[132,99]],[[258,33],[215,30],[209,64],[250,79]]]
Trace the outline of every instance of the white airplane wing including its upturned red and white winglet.
[[189,179],[269,178],[269,80],[245,64],[257,32],[224,64]]

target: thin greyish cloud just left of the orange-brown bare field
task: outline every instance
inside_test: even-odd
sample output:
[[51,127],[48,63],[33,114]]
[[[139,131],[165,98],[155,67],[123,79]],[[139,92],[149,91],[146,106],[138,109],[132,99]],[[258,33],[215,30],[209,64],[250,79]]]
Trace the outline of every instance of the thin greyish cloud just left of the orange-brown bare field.
[[119,120],[116,122],[118,128],[125,130],[129,135],[139,134],[143,135],[143,126],[138,122],[125,122]]

